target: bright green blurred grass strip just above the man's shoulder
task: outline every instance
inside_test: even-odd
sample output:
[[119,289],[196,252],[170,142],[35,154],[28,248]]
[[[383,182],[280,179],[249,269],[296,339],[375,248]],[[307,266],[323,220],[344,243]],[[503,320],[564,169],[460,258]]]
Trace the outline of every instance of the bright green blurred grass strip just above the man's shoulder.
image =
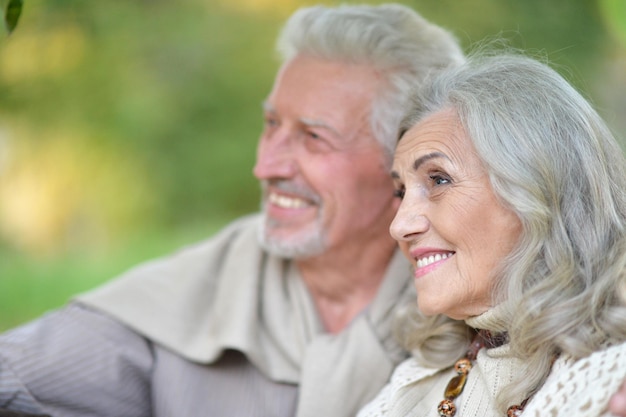
[[0,251],[0,331],[63,305],[72,295],[133,264],[215,233],[222,225],[220,220],[208,220],[201,227],[170,230],[166,235],[160,230],[143,233],[107,251],[106,257],[60,254],[34,262],[21,251]]

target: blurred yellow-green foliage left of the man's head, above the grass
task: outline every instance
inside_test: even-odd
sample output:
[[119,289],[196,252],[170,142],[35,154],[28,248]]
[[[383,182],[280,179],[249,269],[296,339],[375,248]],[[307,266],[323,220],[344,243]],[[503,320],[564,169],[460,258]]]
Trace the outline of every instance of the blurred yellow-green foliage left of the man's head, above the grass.
[[199,2],[29,5],[0,49],[11,241],[56,250],[256,206],[276,22]]

